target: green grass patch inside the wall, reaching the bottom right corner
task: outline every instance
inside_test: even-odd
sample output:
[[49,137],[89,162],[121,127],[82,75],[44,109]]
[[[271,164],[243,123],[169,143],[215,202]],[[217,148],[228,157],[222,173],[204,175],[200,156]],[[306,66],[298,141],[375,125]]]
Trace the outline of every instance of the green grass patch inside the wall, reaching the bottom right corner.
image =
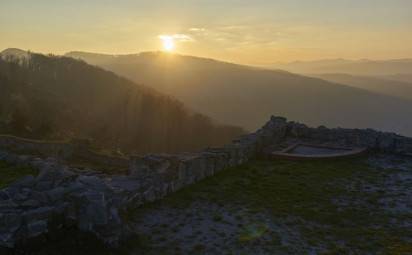
[[[384,185],[386,174],[369,167],[362,158],[254,161],[225,170],[146,208],[187,208],[199,200],[237,204],[251,214],[269,212],[273,218],[299,219],[293,225],[304,239],[309,244],[321,243],[328,254],[412,254],[412,230],[393,226],[391,220],[400,216],[380,207],[382,190],[362,190],[365,183]],[[354,188],[348,189],[348,184],[354,184]],[[338,198],[350,204],[333,202]],[[213,219],[219,220],[216,216]]]

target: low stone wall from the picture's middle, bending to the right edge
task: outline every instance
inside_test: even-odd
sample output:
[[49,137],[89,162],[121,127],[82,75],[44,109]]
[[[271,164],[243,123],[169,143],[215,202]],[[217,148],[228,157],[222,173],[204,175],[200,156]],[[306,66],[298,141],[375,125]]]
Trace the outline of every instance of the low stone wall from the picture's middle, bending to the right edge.
[[[223,148],[179,155],[146,155],[131,157],[129,176],[149,186],[132,206],[160,199],[168,193],[214,175],[228,167],[241,165],[265,152],[281,149],[295,142],[366,147],[386,153],[412,153],[412,138],[372,129],[310,128],[304,124],[272,117],[255,133],[245,135]],[[154,181],[155,180],[155,181]],[[150,183],[152,182],[152,183]]]

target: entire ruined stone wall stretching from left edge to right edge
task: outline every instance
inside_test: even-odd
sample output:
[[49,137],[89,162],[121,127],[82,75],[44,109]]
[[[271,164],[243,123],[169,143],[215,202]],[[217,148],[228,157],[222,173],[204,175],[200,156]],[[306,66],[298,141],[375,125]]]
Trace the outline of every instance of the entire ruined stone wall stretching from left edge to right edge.
[[[412,155],[412,138],[372,129],[310,128],[281,117],[271,117],[255,133],[222,148],[132,156],[124,175],[84,173],[53,157],[41,159],[2,150],[0,160],[38,169],[39,175],[23,177],[0,190],[0,246],[24,246],[33,238],[70,227],[117,246],[129,235],[124,217],[128,210],[295,142]],[[45,150],[44,144],[40,146]]]

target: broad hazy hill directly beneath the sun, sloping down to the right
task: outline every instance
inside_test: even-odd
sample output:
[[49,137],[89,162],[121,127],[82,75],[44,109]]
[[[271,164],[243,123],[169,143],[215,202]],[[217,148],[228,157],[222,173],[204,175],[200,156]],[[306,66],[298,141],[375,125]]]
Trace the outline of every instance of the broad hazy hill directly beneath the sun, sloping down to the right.
[[310,125],[412,135],[412,101],[318,78],[161,52],[66,56],[146,84],[220,122],[248,130],[275,114]]

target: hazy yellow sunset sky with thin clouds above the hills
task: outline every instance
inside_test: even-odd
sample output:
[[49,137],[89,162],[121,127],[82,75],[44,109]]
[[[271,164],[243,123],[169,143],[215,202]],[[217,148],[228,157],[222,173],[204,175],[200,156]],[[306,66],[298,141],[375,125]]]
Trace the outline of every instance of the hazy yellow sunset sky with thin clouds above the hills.
[[0,50],[162,49],[247,64],[412,57],[411,0],[0,0]]

